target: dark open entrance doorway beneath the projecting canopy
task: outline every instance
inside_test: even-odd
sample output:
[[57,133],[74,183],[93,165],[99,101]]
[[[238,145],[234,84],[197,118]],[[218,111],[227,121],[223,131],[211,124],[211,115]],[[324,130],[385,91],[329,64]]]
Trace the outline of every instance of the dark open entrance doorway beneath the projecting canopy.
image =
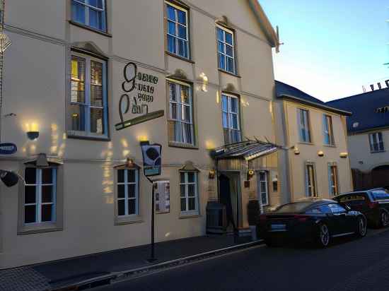
[[240,210],[240,175],[238,172],[223,172],[220,175],[219,197],[220,203],[226,206],[228,229],[234,230],[240,225],[242,216]]

